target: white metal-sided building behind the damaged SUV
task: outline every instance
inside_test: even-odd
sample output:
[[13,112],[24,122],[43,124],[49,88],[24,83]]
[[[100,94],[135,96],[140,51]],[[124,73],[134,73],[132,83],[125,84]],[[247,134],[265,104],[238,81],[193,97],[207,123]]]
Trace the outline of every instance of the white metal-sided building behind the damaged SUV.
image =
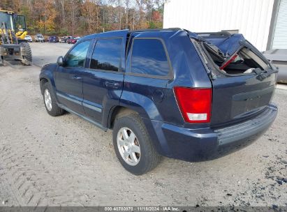
[[287,49],[287,0],[167,0],[163,28],[242,33],[258,50]]

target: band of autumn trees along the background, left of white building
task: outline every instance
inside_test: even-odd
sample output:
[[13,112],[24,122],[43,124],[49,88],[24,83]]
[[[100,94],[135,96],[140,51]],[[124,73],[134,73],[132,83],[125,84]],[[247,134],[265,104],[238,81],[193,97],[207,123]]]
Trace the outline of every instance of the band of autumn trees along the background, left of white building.
[[83,36],[118,29],[161,28],[165,0],[0,0],[26,16],[29,33]]

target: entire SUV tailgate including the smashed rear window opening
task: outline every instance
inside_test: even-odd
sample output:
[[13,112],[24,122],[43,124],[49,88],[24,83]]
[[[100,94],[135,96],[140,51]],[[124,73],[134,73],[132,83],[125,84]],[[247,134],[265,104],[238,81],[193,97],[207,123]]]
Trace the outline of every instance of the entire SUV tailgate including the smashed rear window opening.
[[[272,100],[277,70],[242,35],[204,40],[200,41],[201,54],[213,76],[211,126],[227,126],[263,112]],[[219,56],[212,57],[207,51],[207,40]],[[230,65],[221,68],[222,64]]]

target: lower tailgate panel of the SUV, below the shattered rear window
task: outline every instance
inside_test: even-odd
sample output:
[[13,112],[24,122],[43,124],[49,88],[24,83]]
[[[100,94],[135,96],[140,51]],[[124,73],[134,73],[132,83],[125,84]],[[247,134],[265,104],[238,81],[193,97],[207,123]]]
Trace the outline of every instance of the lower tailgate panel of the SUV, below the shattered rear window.
[[212,80],[211,125],[219,127],[263,112],[272,99],[275,82],[274,73],[262,81],[255,74]]

